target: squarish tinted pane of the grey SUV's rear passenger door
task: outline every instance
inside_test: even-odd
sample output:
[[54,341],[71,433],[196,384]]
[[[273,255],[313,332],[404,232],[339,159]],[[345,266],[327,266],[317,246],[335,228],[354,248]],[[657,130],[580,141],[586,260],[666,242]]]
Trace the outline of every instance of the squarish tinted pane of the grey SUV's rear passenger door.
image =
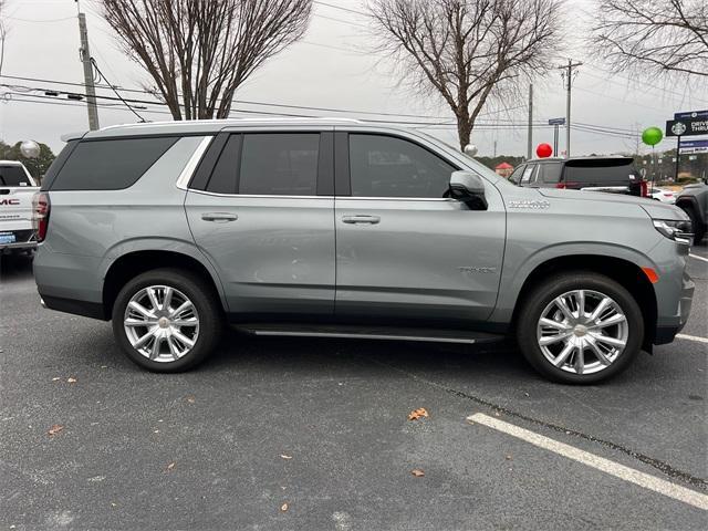
[[317,133],[243,135],[239,194],[314,196]]

